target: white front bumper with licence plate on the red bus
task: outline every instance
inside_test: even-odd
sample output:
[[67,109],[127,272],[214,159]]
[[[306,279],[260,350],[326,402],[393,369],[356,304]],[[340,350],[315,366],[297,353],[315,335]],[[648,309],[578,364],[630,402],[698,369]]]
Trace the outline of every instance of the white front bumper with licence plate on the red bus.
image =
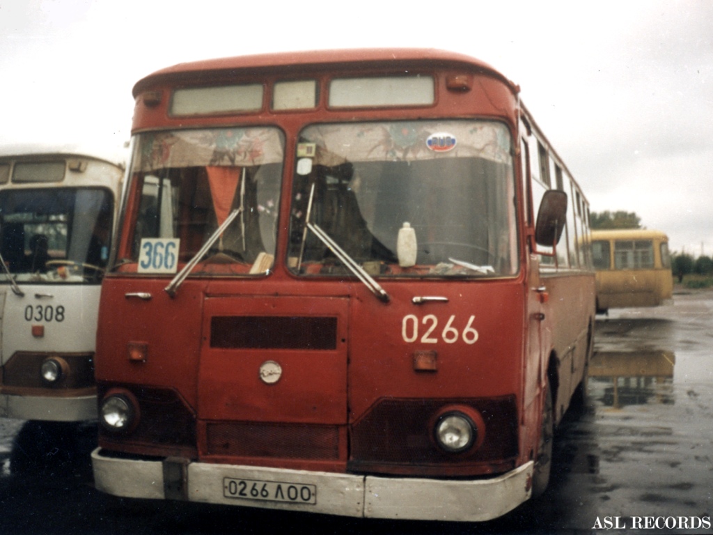
[[[129,498],[165,499],[172,487],[164,474],[180,464],[105,457],[96,449],[92,465],[96,488]],[[307,472],[232,464],[183,464],[180,499],[210,504],[307,511],[382,519],[485,521],[515,509],[530,497],[533,462],[491,479],[453,481]],[[229,484],[230,483],[230,489]],[[168,485],[168,487],[167,487]],[[260,498],[270,489],[284,501]],[[314,503],[289,501],[304,489]],[[247,497],[240,497],[240,491]],[[250,493],[256,494],[250,498]],[[294,494],[288,494],[294,491]],[[169,490],[173,493],[173,490]],[[267,493],[267,490],[265,490]],[[312,495],[312,493],[314,493]],[[171,497],[177,497],[169,495]],[[272,498],[273,496],[270,496]],[[305,500],[307,501],[307,500]]]

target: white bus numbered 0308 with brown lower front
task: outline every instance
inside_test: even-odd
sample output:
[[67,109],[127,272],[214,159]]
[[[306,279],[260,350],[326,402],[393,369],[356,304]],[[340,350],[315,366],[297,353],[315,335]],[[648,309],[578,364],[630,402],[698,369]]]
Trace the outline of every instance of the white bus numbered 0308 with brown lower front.
[[0,148],[0,417],[96,419],[94,346],[123,151]]

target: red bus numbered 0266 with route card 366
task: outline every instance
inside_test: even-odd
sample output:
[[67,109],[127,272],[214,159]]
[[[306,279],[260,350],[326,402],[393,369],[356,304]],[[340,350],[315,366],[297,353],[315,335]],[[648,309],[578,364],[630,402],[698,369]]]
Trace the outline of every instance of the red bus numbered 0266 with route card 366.
[[543,491],[595,276],[517,86],[399,49],[183,63],[133,95],[98,489],[456,521]]

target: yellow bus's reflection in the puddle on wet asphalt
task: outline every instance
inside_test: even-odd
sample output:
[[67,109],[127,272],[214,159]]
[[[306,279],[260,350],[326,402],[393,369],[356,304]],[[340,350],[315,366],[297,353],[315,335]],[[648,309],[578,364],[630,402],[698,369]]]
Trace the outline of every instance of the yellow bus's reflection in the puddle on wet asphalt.
[[604,386],[601,401],[607,407],[672,404],[675,363],[672,351],[597,351],[590,360],[589,377]]

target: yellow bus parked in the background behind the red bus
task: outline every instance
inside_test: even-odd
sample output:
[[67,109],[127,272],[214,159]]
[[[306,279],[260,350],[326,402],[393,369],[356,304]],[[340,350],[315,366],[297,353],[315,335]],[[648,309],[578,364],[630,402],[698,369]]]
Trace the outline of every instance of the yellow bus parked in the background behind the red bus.
[[657,307],[671,299],[668,236],[660,230],[593,230],[597,313],[610,308]]

